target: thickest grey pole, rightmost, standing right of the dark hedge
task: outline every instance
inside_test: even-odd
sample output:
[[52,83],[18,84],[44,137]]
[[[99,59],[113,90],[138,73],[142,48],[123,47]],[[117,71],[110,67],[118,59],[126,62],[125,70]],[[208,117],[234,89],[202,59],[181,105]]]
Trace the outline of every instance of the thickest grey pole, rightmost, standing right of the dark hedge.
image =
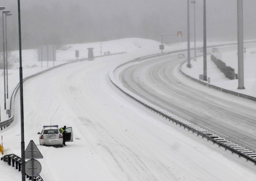
[[243,0],[237,0],[237,54],[238,54],[238,87],[244,87],[244,32],[243,32]]

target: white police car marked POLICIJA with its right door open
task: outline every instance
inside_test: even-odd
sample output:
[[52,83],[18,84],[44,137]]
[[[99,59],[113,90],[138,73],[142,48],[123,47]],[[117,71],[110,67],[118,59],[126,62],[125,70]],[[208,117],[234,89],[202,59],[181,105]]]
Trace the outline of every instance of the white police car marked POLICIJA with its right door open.
[[[67,127],[66,131],[66,142],[73,141],[72,127]],[[40,145],[43,146],[61,146],[63,147],[63,135],[58,125],[43,126],[43,130],[39,134]]]

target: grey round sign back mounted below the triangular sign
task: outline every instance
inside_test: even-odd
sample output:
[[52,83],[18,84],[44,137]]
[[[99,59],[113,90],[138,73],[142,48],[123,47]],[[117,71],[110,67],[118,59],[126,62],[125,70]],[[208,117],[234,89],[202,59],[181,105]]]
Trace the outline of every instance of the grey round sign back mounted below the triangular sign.
[[[32,166],[33,165],[33,166]],[[28,176],[37,176],[41,173],[42,166],[37,160],[28,160],[25,163],[25,172]]]

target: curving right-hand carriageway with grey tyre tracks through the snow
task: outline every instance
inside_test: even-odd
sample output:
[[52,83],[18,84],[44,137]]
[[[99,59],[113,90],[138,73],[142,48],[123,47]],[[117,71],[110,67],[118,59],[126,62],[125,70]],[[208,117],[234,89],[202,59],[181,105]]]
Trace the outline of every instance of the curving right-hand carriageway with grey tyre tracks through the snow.
[[189,80],[179,75],[180,62],[176,55],[145,61],[124,69],[120,80],[126,88],[165,110],[256,150],[256,104],[199,83],[190,86]]

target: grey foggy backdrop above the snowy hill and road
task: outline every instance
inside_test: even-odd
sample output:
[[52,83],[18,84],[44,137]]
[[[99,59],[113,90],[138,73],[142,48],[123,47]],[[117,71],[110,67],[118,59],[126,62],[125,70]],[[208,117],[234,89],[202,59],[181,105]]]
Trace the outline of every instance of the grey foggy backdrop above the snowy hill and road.
[[[7,17],[8,50],[17,50],[18,1],[0,2],[12,13]],[[206,2],[207,41],[237,39],[236,2]],[[194,4],[189,1],[189,5],[190,38],[194,41]],[[256,38],[255,9],[255,0],[244,0],[244,39]],[[130,37],[160,42],[162,33],[177,31],[182,31],[181,38],[165,36],[163,42],[187,41],[187,0],[20,0],[20,11],[22,49]],[[2,17],[0,22],[2,33]],[[203,0],[196,0],[196,40],[203,40]]]

